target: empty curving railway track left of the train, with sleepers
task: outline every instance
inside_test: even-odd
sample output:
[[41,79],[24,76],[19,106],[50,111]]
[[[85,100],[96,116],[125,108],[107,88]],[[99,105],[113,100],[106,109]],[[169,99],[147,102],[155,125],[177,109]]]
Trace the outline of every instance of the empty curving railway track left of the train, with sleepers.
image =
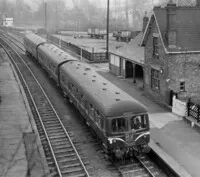
[[14,64],[27,95],[50,173],[53,176],[89,177],[86,164],[30,68],[2,37],[0,44]]

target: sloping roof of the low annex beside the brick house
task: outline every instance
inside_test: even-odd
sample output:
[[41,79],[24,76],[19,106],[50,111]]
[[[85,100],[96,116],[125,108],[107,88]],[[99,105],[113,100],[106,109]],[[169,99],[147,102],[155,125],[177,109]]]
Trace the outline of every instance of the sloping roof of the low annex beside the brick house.
[[143,33],[140,32],[129,44],[118,49],[111,49],[110,52],[133,62],[144,64],[144,47],[139,46]]

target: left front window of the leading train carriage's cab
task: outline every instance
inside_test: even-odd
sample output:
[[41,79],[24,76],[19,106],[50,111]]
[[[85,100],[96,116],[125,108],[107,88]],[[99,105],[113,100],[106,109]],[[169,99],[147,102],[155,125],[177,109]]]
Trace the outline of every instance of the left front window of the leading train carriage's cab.
[[112,131],[113,132],[124,132],[127,131],[127,120],[125,118],[118,118],[112,120]]

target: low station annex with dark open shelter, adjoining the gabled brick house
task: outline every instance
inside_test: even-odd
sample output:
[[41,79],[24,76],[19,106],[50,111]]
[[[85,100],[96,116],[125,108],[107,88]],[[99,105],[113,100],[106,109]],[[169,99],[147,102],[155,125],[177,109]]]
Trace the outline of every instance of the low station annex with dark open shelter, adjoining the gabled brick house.
[[143,32],[148,23],[145,14],[143,18],[143,31],[120,48],[111,48],[109,52],[110,72],[124,79],[131,79],[133,83],[144,86],[144,47],[140,46]]

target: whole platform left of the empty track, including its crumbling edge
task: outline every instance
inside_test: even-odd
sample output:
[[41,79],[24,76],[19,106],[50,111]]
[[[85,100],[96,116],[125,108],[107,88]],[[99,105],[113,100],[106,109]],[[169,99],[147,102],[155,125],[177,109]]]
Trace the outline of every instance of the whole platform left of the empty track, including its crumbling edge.
[[20,87],[6,53],[0,48],[0,176],[43,176],[46,172],[36,143],[31,143],[28,136],[34,134],[34,128]]

